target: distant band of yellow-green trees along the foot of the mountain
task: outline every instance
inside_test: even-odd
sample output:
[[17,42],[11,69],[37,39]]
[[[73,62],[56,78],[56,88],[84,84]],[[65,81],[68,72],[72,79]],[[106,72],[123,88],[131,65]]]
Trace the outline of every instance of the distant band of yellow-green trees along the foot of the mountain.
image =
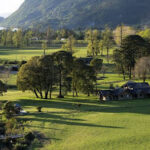
[[[70,39],[71,36],[76,40],[86,40],[91,42],[89,43],[92,47],[97,45],[97,40],[101,40],[101,44],[104,45],[107,49],[112,45],[112,39],[115,40],[117,44],[119,41],[129,35],[135,33],[135,30],[129,26],[118,26],[115,30],[110,29],[108,26],[104,30],[53,30],[48,27],[45,31],[39,30],[3,30],[0,31],[0,43],[3,46],[15,46],[23,47],[29,46],[31,44],[31,39],[37,37],[40,40],[46,40],[50,43],[52,40]],[[142,34],[139,32],[139,34]],[[103,47],[103,46],[102,46]],[[96,48],[96,47],[95,47]],[[97,54],[97,48],[95,50]]]

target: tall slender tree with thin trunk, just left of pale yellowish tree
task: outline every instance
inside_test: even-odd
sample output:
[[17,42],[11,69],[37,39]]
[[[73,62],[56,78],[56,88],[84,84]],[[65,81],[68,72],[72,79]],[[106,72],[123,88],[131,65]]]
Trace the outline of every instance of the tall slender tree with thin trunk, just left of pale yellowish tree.
[[103,46],[107,50],[107,62],[109,63],[109,50],[113,46],[113,35],[109,27],[106,26],[105,30],[102,32]]

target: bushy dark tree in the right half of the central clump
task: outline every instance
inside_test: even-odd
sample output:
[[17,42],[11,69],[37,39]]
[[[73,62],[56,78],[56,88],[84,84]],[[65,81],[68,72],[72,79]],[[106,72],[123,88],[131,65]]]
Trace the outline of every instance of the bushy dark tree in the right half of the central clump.
[[96,73],[93,67],[87,66],[83,60],[75,59],[71,73],[73,96],[83,92],[90,96],[94,92]]

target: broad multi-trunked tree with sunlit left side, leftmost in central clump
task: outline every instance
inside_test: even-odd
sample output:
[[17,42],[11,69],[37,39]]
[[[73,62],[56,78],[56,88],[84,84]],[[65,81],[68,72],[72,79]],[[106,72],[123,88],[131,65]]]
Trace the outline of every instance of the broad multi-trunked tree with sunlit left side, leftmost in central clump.
[[[56,84],[56,71],[53,56],[33,57],[22,65],[17,76],[17,86],[20,90],[32,91],[37,98],[48,98]],[[43,96],[44,94],[44,96]]]

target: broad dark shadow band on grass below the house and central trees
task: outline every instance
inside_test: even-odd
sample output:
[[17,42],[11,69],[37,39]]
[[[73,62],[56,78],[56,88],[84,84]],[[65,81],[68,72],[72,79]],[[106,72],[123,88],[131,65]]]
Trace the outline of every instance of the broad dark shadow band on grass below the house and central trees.
[[[86,98],[64,98],[53,100],[20,99],[23,107],[42,106],[43,108],[56,108],[66,110],[80,110],[80,112],[105,112],[105,113],[139,113],[150,114],[150,100],[112,101],[100,104],[98,100]],[[81,107],[78,107],[81,104]],[[64,112],[59,112],[64,113]],[[65,112],[66,113],[66,112]]]

